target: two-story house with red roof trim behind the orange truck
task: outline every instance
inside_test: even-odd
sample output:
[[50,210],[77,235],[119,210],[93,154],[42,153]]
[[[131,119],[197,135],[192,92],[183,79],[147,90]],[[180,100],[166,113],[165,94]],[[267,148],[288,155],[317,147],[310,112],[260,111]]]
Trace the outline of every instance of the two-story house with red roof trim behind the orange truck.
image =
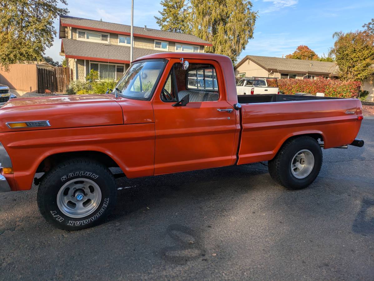
[[[119,79],[130,64],[130,25],[60,16],[60,55],[68,59],[74,80],[91,69],[100,79]],[[204,52],[211,43],[194,35],[134,26],[133,58],[159,52]]]

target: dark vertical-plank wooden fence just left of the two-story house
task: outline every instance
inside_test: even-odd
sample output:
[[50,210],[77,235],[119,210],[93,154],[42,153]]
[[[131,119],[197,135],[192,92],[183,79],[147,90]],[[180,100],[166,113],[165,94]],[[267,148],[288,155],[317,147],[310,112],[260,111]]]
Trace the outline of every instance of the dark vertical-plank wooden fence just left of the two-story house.
[[67,67],[38,68],[38,92],[65,92],[73,78],[73,70]]

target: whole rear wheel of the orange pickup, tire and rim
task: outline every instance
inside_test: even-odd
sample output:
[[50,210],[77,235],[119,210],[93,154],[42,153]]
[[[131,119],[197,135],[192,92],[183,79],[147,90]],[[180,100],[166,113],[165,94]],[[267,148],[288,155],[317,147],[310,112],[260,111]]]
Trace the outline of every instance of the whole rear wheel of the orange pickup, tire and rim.
[[309,136],[287,141],[274,159],[269,161],[269,173],[273,180],[289,189],[309,186],[322,166],[322,150],[318,141]]

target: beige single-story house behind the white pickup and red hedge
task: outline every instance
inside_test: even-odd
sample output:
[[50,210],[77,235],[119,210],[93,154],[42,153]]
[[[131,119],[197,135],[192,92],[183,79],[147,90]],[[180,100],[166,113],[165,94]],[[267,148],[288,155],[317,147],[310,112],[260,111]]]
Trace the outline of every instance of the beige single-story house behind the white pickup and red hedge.
[[[338,78],[335,62],[308,61],[303,59],[276,58],[272,56],[245,56],[235,67],[236,77],[275,77],[295,79]],[[371,81],[370,81],[371,80]],[[369,91],[374,97],[374,75],[364,81],[362,90]]]

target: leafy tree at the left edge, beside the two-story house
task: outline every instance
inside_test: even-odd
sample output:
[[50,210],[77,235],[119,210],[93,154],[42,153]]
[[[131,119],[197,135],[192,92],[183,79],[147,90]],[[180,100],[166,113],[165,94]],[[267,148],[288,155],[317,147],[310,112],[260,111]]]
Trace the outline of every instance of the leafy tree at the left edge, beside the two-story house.
[[9,64],[41,61],[57,32],[53,20],[68,10],[66,0],[0,0],[0,68]]

